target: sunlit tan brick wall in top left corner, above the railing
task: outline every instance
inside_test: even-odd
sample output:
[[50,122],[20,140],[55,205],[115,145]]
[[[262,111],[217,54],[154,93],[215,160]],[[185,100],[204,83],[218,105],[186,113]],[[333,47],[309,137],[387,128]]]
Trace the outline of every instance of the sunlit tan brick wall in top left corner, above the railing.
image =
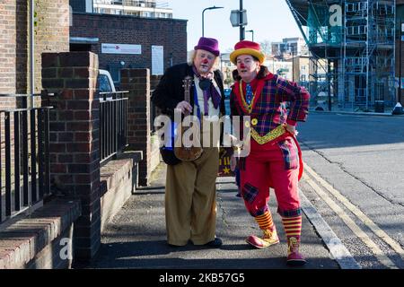
[[[26,93],[29,90],[28,3],[4,0],[0,4],[0,93]],[[68,0],[38,0],[35,11],[35,90],[39,92],[42,52],[69,49]]]

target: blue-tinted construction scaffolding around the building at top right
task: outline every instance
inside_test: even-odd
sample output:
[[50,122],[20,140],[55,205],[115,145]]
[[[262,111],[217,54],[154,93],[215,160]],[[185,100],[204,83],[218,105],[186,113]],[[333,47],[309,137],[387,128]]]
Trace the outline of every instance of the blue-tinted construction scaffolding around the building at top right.
[[310,52],[312,106],[396,104],[395,0],[286,0]]

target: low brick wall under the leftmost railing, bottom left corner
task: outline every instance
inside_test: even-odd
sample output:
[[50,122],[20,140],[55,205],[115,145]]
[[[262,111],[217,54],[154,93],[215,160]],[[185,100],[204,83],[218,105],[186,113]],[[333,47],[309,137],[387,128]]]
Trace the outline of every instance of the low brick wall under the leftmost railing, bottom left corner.
[[15,217],[0,230],[0,269],[69,268],[80,212],[78,201],[55,198],[29,216]]

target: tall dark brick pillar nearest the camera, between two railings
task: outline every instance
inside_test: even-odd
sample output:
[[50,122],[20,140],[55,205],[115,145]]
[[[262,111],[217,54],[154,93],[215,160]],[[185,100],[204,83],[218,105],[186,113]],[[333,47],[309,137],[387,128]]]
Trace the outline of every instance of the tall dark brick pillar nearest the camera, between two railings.
[[92,52],[42,54],[42,86],[58,93],[50,100],[50,180],[54,192],[81,199],[74,259],[84,261],[101,243],[97,75],[98,56]]

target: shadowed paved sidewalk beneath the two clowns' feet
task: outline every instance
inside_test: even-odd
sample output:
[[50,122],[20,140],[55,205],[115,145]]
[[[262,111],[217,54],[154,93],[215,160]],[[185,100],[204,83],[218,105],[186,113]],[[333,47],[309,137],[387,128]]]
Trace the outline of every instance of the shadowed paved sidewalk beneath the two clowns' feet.
[[[171,248],[166,244],[164,219],[165,165],[154,171],[151,187],[136,191],[121,211],[107,225],[101,237],[98,257],[89,268],[184,268],[184,269],[262,269],[290,268],[285,265],[286,243],[280,216],[276,213],[275,196],[270,210],[281,243],[265,249],[254,249],[245,243],[250,234],[261,232],[247,213],[242,199],[236,197],[233,178],[218,178],[217,236],[223,239],[222,248]],[[336,269],[329,251],[303,216],[303,254],[308,263],[301,268]],[[294,267],[296,268],[296,267]]]

